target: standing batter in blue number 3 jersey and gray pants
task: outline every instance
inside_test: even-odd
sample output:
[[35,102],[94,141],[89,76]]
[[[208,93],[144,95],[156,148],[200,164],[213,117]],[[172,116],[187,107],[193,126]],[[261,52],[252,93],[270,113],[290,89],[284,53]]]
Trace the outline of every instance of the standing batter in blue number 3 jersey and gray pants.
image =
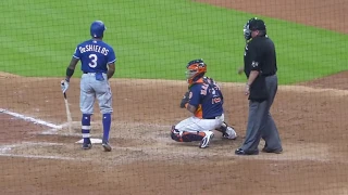
[[90,117],[94,114],[96,99],[102,113],[102,146],[105,152],[111,151],[109,144],[109,132],[111,127],[112,93],[109,79],[114,75],[116,56],[113,48],[102,41],[105,26],[101,21],[95,21],[90,25],[91,39],[79,43],[66,68],[66,77],[61,81],[63,93],[70,84],[75,67],[80,61],[80,69],[84,73],[80,78],[79,107],[82,117],[82,134],[84,139],[83,148],[91,148],[90,142]]

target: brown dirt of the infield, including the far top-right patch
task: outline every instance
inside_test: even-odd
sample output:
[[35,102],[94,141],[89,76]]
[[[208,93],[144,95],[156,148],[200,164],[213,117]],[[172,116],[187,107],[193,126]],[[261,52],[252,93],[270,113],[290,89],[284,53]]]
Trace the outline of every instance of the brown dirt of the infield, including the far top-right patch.
[[[211,2],[251,12],[262,10],[250,10],[249,0]],[[272,11],[259,13],[344,32],[348,29],[334,25],[344,17],[339,13],[347,13],[338,12],[348,8],[343,0],[289,2],[264,1],[260,6],[272,4]],[[291,14],[282,13],[284,4]],[[312,17],[303,16],[304,8]],[[323,13],[332,17],[310,20]],[[211,146],[199,150],[197,143],[175,143],[169,136],[170,127],[189,116],[178,108],[185,82],[112,79],[114,150],[103,153],[100,144],[82,151],[75,143],[80,139],[78,81],[72,80],[67,93],[74,120],[70,132],[60,79],[0,75],[4,87],[0,93],[0,194],[348,194],[347,73],[279,87],[272,113],[284,154],[248,157],[234,155],[247,122],[247,99],[240,84],[221,83],[226,121],[239,138],[226,141],[216,132]],[[33,119],[37,123],[29,121]],[[91,133],[92,138],[101,136],[97,106]]]

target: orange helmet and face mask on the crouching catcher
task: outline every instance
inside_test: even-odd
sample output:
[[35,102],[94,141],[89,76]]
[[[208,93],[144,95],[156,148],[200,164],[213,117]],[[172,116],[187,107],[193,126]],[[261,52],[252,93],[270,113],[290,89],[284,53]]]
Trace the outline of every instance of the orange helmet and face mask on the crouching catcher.
[[194,83],[207,73],[207,64],[202,58],[188,62],[186,65],[186,78],[188,83]]

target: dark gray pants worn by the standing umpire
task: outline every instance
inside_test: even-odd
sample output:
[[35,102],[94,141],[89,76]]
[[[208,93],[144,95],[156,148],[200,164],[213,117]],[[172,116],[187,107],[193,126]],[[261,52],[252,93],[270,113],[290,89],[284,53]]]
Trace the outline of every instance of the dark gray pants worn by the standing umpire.
[[249,101],[249,117],[247,132],[241,150],[245,152],[256,152],[261,138],[265,141],[268,150],[281,150],[282,142],[278,130],[270,113],[276,91],[277,76],[265,77],[265,84],[269,98],[263,102]]

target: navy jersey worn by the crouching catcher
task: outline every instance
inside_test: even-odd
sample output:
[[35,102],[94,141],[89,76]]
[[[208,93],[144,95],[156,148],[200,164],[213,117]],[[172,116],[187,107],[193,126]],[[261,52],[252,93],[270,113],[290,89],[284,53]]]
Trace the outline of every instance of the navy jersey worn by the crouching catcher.
[[198,107],[201,106],[202,118],[213,119],[224,113],[223,95],[220,87],[213,79],[204,77],[190,87],[189,104]]

